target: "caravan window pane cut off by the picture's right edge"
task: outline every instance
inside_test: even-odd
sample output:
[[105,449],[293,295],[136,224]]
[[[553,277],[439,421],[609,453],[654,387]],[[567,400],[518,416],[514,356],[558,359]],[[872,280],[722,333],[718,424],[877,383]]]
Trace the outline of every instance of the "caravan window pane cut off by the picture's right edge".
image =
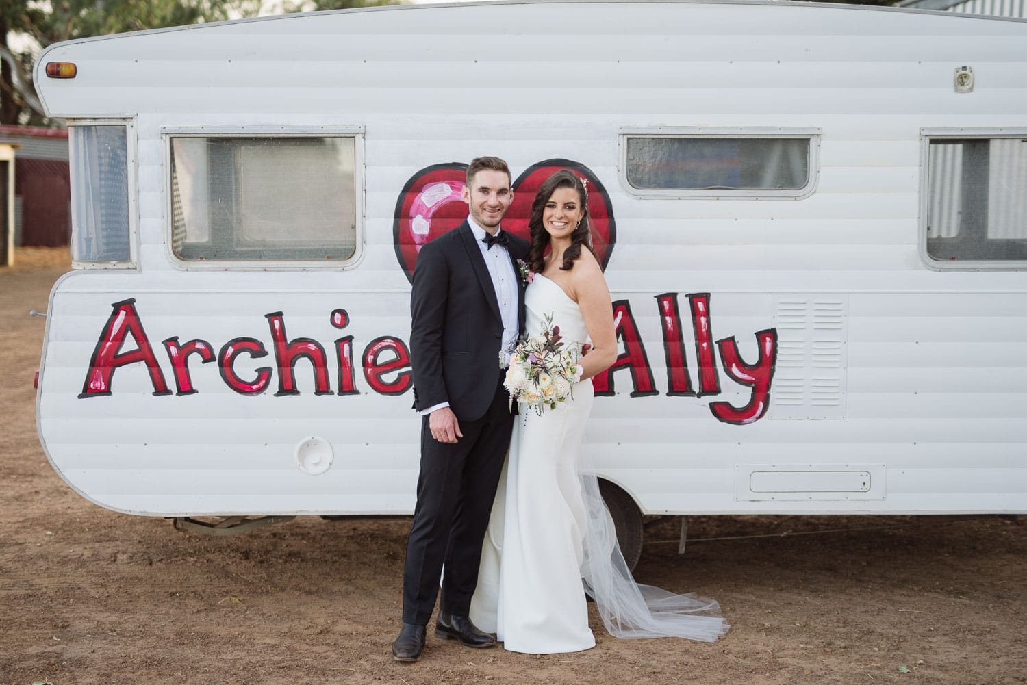
[[931,265],[1022,268],[1027,262],[1027,135],[928,136],[926,155],[921,245]]

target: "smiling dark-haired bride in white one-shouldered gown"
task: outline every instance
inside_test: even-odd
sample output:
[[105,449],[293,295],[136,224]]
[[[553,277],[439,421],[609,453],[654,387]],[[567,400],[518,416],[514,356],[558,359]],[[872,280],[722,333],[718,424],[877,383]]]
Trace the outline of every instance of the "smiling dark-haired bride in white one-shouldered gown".
[[[610,293],[592,252],[587,192],[567,169],[550,176],[531,207],[534,273],[526,331],[546,316],[568,343],[588,342],[573,398],[542,414],[521,408],[485,537],[471,620],[504,648],[530,654],[596,644],[582,580],[606,630],[620,638],[714,641],[727,631],[711,600],[673,595],[632,578],[595,475],[579,452],[593,403],[589,380],[617,356]],[[583,249],[582,249],[583,248]]]

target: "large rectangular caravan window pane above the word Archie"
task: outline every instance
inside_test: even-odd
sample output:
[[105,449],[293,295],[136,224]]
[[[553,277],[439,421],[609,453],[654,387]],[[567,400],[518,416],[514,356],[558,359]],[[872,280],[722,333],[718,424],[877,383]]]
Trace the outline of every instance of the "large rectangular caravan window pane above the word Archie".
[[173,136],[172,250],[187,262],[348,260],[356,137]]

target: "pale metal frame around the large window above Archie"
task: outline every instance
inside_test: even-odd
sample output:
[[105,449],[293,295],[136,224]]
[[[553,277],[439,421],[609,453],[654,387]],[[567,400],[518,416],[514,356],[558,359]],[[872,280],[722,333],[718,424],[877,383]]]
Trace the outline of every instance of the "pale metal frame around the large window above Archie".
[[[170,263],[184,271],[340,271],[354,268],[364,259],[366,248],[365,127],[353,126],[189,126],[163,127],[160,141],[164,155],[163,207],[164,226],[162,239],[164,253]],[[345,260],[185,260],[175,254],[172,234],[174,216],[172,207],[172,140],[176,138],[350,138],[353,140],[353,254]]]

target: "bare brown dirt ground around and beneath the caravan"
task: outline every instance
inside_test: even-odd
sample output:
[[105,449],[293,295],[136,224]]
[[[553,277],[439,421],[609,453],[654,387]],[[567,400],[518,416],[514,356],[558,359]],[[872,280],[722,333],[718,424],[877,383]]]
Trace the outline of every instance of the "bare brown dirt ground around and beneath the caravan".
[[724,640],[615,640],[593,614],[579,654],[429,637],[394,663],[409,520],[213,538],[65,485],[36,436],[44,319],[27,313],[68,258],[17,257],[0,269],[0,684],[1027,683],[1027,517],[693,517],[683,557],[678,520],[655,522],[638,579],[720,600]]

